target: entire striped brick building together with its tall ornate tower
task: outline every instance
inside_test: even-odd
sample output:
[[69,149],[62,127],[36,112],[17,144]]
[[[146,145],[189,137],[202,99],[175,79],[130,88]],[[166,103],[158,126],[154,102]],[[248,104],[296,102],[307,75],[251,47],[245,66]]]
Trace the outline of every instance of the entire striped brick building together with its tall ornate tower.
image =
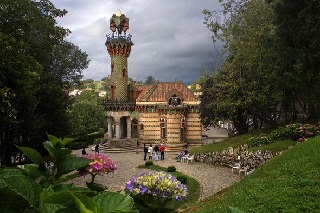
[[113,14],[105,44],[111,57],[111,97],[104,103],[109,139],[137,138],[168,150],[201,145],[199,101],[182,82],[129,83],[133,43],[128,29],[129,19],[120,11]]

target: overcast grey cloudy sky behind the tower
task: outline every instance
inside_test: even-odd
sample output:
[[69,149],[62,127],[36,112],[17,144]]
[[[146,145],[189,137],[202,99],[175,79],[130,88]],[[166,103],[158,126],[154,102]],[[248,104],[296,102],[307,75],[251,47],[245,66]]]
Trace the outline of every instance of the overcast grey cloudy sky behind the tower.
[[127,35],[134,46],[128,74],[135,81],[148,76],[159,81],[192,83],[203,68],[214,68],[211,32],[203,24],[203,9],[216,10],[217,0],[51,0],[68,14],[58,25],[71,30],[68,40],[89,55],[84,79],[110,75],[105,47],[110,18],[118,9],[130,19]]

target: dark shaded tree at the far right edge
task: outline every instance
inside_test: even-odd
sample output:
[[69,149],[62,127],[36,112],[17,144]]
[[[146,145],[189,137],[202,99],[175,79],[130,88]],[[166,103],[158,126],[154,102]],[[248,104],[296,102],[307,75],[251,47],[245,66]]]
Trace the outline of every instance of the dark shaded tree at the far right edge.
[[320,116],[318,1],[269,0],[279,38],[278,76],[285,93],[283,110],[296,117],[297,106],[312,118]]

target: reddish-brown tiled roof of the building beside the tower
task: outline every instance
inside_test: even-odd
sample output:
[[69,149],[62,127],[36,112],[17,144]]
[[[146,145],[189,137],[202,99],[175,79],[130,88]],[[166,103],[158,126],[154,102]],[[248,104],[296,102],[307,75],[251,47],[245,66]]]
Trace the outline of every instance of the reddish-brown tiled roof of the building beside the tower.
[[167,102],[172,95],[178,96],[182,101],[197,101],[194,94],[182,84],[177,82],[158,82],[151,85],[135,85],[137,102]]

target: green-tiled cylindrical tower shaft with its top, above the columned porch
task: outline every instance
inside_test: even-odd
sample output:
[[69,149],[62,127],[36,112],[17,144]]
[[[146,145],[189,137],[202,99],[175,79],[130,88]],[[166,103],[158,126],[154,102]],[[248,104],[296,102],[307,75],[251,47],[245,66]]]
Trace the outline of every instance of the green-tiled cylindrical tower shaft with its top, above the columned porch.
[[110,19],[112,36],[107,35],[106,46],[111,57],[111,101],[129,102],[128,89],[128,57],[131,52],[131,35],[126,36],[129,29],[129,18],[121,11]]

